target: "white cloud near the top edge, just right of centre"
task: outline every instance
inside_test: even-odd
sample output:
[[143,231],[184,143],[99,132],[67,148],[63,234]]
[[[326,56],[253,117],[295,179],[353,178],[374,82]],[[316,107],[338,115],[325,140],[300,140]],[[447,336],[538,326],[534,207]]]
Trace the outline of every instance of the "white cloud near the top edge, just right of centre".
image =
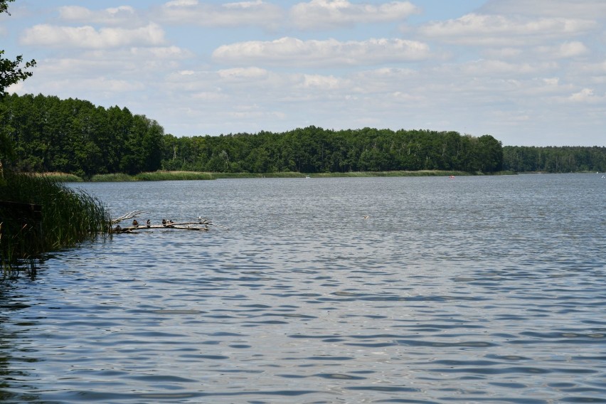
[[347,0],[312,0],[291,9],[294,25],[302,29],[336,28],[356,23],[402,21],[420,10],[410,1],[352,4]]

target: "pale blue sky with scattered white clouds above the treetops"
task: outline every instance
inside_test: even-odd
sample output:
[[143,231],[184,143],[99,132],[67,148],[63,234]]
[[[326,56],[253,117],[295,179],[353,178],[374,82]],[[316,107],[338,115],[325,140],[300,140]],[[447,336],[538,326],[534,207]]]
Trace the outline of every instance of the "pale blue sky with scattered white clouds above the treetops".
[[181,136],[314,125],[606,146],[604,0],[16,0],[9,92]]

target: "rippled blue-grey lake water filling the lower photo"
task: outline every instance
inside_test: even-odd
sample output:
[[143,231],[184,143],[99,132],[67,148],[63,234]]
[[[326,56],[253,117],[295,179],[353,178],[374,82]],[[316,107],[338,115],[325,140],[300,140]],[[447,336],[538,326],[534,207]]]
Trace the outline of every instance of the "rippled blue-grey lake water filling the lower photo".
[[230,230],[1,285],[0,401],[606,403],[599,175],[75,186]]

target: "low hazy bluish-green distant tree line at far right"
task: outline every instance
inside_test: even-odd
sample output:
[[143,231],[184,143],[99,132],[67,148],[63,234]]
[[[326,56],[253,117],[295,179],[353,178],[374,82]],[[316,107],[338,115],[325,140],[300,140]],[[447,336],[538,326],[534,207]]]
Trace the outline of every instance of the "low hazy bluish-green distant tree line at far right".
[[511,171],[606,171],[606,147],[507,146],[503,155],[503,168]]

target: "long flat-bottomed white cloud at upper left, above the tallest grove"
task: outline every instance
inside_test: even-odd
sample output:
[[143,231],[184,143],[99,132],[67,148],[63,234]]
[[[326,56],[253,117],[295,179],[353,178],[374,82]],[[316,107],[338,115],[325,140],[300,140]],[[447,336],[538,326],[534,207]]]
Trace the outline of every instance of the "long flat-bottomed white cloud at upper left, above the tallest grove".
[[39,24],[26,29],[21,38],[23,45],[89,49],[156,46],[164,42],[164,30],[155,23],[149,23],[141,28],[100,28],[99,30],[92,26]]

